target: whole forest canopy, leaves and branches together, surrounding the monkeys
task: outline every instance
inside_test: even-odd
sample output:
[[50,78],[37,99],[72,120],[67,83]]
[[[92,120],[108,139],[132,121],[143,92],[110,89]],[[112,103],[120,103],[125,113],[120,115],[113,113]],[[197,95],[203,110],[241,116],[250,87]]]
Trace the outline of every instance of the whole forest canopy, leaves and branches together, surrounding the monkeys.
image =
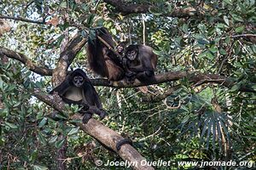
[[[0,169],[255,166],[255,6],[254,0],[2,0]],[[115,45],[154,49],[154,81],[110,82],[90,69],[87,42],[102,26]],[[84,124],[79,105],[49,94],[77,68],[95,86],[108,112],[103,120]],[[116,150],[122,138],[133,144]],[[116,164],[101,164],[108,161]]]

